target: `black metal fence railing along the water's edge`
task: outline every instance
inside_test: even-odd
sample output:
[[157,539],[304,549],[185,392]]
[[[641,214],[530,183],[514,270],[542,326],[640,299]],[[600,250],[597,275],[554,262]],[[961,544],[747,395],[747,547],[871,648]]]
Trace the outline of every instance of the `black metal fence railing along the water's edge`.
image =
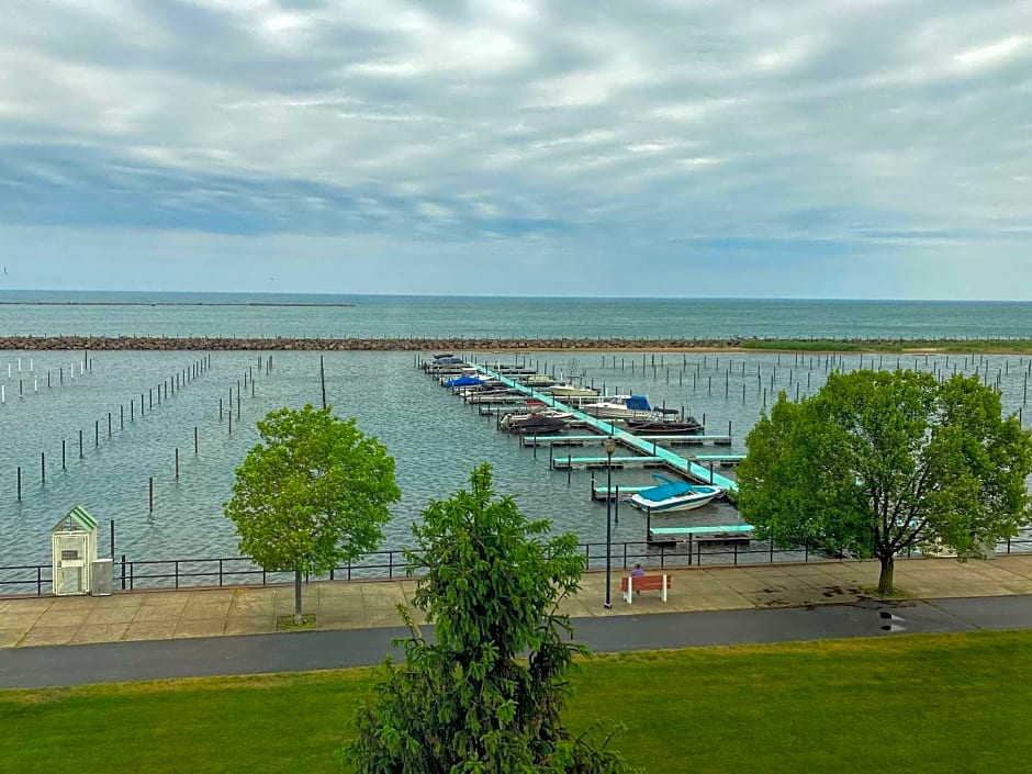
[[[606,543],[581,543],[588,570],[606,567]],[[808,543],[776,548],[774,543],[752,541],[687,540],[676,542],[614,542],[609,547],[614,569],[626,570],[636,562],[648,568],[738,567],[787,562],[829,561],[843,557],[828,548]],[[918,554],[908,550],[905,556]],[[997,554],[1032,553],[1032,538],[1012,538],[997,546]],[[334,568],[310,581],[393,580],[407,577],[403,550],[374,551],[361,560]],[[180,588],[195,586],[263,586],[293,581],[292,572],[268,572],[247,557],[215,559],[148,559],[122,557],[113,563],[112,585],[116,591],[138,588]],[[0,596],[42,596],[52,593],[51,564],[0,567]]]

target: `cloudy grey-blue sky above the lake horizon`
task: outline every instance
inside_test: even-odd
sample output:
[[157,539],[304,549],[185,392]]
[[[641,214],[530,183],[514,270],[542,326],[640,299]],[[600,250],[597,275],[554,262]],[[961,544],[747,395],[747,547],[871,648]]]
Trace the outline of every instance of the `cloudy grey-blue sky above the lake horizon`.
[[1032,300],[1032,2],[4,0],[0,291]]

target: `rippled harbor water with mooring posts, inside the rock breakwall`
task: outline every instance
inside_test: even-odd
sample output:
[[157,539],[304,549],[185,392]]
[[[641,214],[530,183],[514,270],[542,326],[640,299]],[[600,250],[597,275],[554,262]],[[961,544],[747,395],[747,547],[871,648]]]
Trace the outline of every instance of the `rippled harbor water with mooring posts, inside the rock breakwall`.
[[[85,506],[101,521],[102,554],[108,551],[105,527],[113,519],[117,530],[116,552],[131,559],[236,556],[233,525],[221,509],[229,495],[234,469],[256,442],[258,418],[283,405],[319,403],[319,355],[274,352],[272,372],[265,373],[265,369],[258,368],[257,352],[215,352],[207,372],[186,383],[176,394],[162,396],[161,403],[155,403],[153,408],[146,397],[148,390],[153,395],[156,385],[190,369],[203,357],[201,354],[98,351],[90,357],[92,370],[77,372],[71,379],[72,363],[81,362],[81,354],[0,352],[0,384],[7,395],[7,402],[0,406],[0,525],[4,530],[0,565],[48,562],[49,529],[75,505]],[[535,457],[516,439],[497,433],[492,418],[472,411],[419,371],[416,357],[413,352],[325,355],[329,402],[339,415],[357,417],[359,427],[384,442],[397,461],[404,497],[393,508],[384,548],[411,545],[410,525],[418,519],[427,501],[447,496],[463,485],[470,470],[485,460],[494,465],[497,490],[514,495],[528,515],[549,518],[557,529],[573,530],[585,541],[605,539],[606,508],[604,503],[592,502],[588,496],[590,472],[573,472],[568,485],[565,472],[549,470],[547,449],[539,449]],[[503,357],[512,362],[513,356]],[[540,352],[520,357],[529,358],[541,371],[582,373],[596,386],[604,385],[607,392],[643,393],[655,404],[684,407],[699,418],[705,415],[711,433],[725,433],[730,424],[733,445],[719,449],[730,453],[744,451],[744,435],[778,390],[793,396],[796,391],[812,392],[823,383],[832,364],[817,356],[772,354]],[[864,360],[848,356],[837,362],[845,370],[861,364],[895,368],[896,363],[895,356],[872,359],[870,355]],[[977,368],[990,382],[1000,380],[1008,410],[1017,411],[1024,405],[1028,358],[922,356],[905,357],[900,364],[944,373],[952,373],[954,368],[965,372]],[[64,383],[59,383],[58,373],[64,374]],[[236,393],[238,380],[243,386],[245,373],[254,373],[255,379],[251,381],[248,375],[239,414],[234,395],[231,434],[229,390]],[[33,389],[33,380],[38,390]],[[16,397],[19,381],[23,397]],[[138,408],[142,393],[148,405],[143,416]],[[120,412],[124,412],[124,428]],[[94,435],[97,428],[99,438]],[[199,439],[197,455],[194,428]],[[714,449],[689,447],[681,453],[705,451]],[[45,483],[41,481],[41,452],[46,456]],[[21,502],[15,490],[19,467]],[[621,485],[649,480],[647,471],[614,471],[613,475],[614,483]],[[148,507],[152,478],[153,511]],[[737,512],[726,504],[693,512],[692,519],[700,525],[740,521]],[[621,506],[614,540],[641,540],[644,529],[643,515]]]

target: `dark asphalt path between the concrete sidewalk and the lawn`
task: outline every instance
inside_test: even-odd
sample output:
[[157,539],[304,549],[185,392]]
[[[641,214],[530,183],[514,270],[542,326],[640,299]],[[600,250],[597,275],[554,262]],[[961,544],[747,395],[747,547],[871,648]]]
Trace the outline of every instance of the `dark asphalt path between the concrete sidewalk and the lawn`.
[[[595,652],[663,650],[749,642],[788,642],[913,632],[1032,628],[1032,596],[825,605],[577,618],[577,641]],[[392,653],[407,629],[280,635],[0,650],[0,688],[205,677],[369,666]],[[433,636],[433,627],[424,627]]]

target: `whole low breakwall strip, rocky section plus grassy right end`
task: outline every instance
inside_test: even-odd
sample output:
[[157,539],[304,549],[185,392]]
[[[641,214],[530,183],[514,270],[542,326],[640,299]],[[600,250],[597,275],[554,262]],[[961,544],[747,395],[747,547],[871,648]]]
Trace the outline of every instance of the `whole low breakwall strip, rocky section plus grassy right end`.
[[233,338],[5,336],[0,350],[96,351],[717,351],[1032,355],[1032,339]]

